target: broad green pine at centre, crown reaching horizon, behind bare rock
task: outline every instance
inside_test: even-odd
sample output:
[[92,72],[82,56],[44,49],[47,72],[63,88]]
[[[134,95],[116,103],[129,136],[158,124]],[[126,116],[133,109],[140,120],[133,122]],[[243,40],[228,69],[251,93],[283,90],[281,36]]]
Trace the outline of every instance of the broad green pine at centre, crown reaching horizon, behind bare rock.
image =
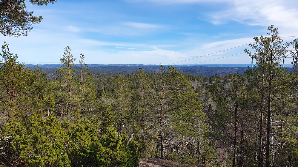
[[[149,82],[152,92],[144,101],[150,111],[146,122],[148,139],[156,142],[160,158],[183,162],[195,158],[196,162],[198,132],[202,135],[206,129],[205,124],[198,126],[205,119],[202,104],[196,100],[198,94],[191,91],[189,78],[174,67],[166,70],[160,65],[155,74],[157,81]],[[189,156],[182,156],[185,154]]]

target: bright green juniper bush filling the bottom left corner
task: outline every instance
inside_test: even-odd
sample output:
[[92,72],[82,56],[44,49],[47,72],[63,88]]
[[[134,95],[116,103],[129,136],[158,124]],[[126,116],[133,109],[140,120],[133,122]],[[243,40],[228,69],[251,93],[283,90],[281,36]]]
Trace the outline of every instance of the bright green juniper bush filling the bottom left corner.
[[[32,115],[22,122],[5,124],[2,136],[12,136],[9,161],[19,161],[28,166],[70,166],[65,152],[68,136],[53,115],[41,119]],[[19,157],[19,160],[16,159]],[[18,163],[17,163],[18,164]]]

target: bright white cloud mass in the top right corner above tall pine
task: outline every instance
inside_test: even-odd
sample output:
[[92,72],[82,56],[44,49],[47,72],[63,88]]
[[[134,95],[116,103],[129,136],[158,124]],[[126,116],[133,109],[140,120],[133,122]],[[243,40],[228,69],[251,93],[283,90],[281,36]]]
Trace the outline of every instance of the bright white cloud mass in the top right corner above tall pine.
[[233,0],[226,3],[230,8],[209,13],[207,21],[213,24],[232,20],[250,26],[275,25],[283,34],[298,31],[298,3],[295,0]]

